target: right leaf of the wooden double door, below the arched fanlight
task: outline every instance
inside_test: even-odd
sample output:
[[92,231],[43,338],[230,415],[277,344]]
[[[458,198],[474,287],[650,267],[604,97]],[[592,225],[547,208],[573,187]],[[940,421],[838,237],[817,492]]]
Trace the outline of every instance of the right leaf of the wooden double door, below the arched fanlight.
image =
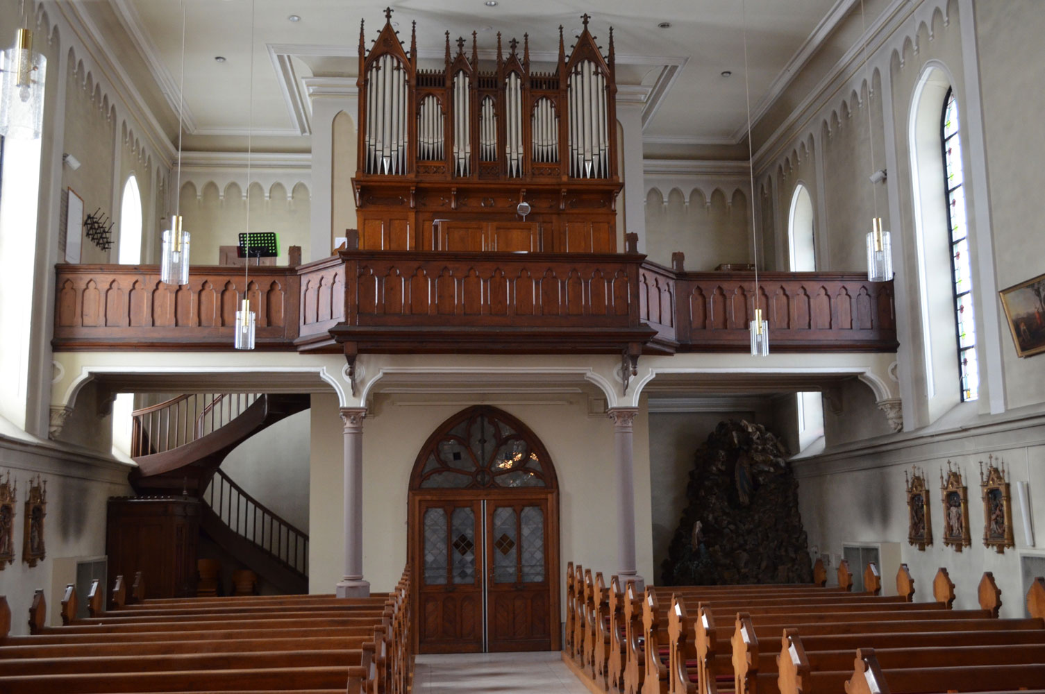
[[486,503],[487,650],[548,650],[548,501]]

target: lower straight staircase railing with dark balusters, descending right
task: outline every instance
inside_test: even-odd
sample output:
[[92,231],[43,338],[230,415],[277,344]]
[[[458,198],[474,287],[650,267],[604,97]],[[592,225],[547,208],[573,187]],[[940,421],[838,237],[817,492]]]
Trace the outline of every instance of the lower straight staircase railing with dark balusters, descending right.
[[235,534],[295,574],[308,576],[308,535],[247,493],[220,468],[201,499]]

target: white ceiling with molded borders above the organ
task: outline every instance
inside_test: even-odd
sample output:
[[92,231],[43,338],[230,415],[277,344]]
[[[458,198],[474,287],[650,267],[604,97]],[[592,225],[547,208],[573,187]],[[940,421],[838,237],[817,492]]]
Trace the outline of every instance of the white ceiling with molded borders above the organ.
[[[182,3],[108,2],[177,107]],[[608,27],[614,27],[619,84],[656,87],[654,97],[663,96],[655,98],[655,110],[646,111],[645,136],[716,144],[735,143],[746,126],[744,24],[757,109],[853,5],[854,0],[746,0],[745,20],[740,0],[500,0],[495,7],[483,0],[407,0],[394,5],[393,20],[408,44],[410,23],[417,21],[422,56],[442,54],[446,30],[451,38],[479,31],[481,50],[495,47],[497,31],[506,44],[529,32],[532,53],[554,55],[558,26],[566,28],[568,52],[573,33],[580,31],[579,16],[586,11],[604,48]],[[355,76],[359,20],[366,21],[368,43],[385,23],[382,6],[359,0],[185,0],[184,7],[186,130],[214,138],[246,134],[252,102],[255,135],[306,134],[307,121],[294,116],[288,92],[302,93],[301,79],[314,74]],[[301,21],[288,21],[292,14]],[[658,28],[665,21],[671,27]],[[226,62],[215,62],[216,55]],[[723,70],[733,75],[721,76]]]

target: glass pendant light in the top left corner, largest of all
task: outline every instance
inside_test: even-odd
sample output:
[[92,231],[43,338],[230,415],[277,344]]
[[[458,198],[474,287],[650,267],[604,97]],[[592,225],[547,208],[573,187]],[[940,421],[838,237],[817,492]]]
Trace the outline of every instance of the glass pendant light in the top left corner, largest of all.
[[25,27],[15,45],[0,54],[0,135],[19,140],[40,137],[44,124],[44,78],[47,59],[32,50],[32,31],[22,0]]

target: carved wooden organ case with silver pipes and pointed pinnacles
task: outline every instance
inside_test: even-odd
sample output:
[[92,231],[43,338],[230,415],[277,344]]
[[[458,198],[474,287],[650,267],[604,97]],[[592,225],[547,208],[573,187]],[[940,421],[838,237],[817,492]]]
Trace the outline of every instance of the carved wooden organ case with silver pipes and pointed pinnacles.
[[416,23],[407,52],[385,16],[369,51],[359,27],[359,248],[617,252],[612,28],[604,57],[584,15],[567,59],[560,26],[548,72],[531,71],[528,34],[505,57],[498,33],[490,70],[474,32],[469,56],[447,31],[444,67],[419,69]]

